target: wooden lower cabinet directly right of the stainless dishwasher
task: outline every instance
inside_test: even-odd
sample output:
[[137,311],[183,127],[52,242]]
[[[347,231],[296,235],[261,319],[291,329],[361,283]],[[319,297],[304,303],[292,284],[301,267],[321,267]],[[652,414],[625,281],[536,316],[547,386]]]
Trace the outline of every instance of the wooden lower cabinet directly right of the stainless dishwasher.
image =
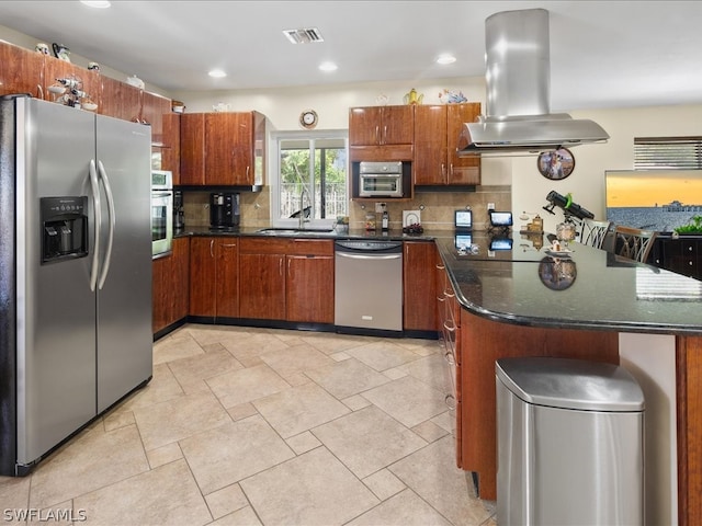
[[406,331],[435,331],[437,281],[432,270],[439,262],[433,241],[406,241],[403,255],[403,328]]

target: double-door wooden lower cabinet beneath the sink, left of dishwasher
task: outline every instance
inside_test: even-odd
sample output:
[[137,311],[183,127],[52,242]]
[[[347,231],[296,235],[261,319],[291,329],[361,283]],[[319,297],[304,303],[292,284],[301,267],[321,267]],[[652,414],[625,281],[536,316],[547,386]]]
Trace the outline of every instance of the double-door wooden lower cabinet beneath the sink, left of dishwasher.
[[242,238],[240,317],[333,323],[333,241]]

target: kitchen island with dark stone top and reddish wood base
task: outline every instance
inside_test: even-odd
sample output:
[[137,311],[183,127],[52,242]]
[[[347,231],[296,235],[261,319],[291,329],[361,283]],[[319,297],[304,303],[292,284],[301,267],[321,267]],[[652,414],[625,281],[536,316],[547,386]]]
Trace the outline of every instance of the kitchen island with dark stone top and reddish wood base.
[[[677,485],[678,524],[698,524],[702,283],[578,243],[571,243],[570,253],[552,258],[545,251],[548,241],[540,236],[509,236],[508,250],[498,250],[505,248],[500,243],[490,250],[492,239],[488,232],[473,232],[469,244],[462,241],[467,250],[458,250],[456,237],[437,238],[461,306],[457,459],[477,474],[480,496],[496,498],[496,359],[541,355],[619,364],[630,338],[666,335],[675,354],[671,412],[677,413],[670,459],[673,474],[677,464],[677,484],[673,479],[671,485]],[[644,342],[645,352],[647,340],[635,341]]]

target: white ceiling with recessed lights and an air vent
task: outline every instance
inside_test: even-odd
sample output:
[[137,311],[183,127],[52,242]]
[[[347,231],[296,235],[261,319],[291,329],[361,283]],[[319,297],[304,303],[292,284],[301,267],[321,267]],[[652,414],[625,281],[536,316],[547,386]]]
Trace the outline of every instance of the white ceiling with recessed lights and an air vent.
[[[0,1],[0,24],[168,91],[483,77],[485,19],[551,13],[552,111],[702,102],[698,1]],[[317,27],[293,45],[283,30]],[[453,53],[457,61],[434,59]],[[332,73],[318,70],[333,60]],[[225,79],[207,71],[222,68]]]

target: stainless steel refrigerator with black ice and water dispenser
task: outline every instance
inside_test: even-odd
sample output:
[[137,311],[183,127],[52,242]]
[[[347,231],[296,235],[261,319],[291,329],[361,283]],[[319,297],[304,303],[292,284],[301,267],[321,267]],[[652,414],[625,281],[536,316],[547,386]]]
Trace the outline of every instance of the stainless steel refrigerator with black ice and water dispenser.
[[0,100],[0,474],[152,374],[148,126]]

